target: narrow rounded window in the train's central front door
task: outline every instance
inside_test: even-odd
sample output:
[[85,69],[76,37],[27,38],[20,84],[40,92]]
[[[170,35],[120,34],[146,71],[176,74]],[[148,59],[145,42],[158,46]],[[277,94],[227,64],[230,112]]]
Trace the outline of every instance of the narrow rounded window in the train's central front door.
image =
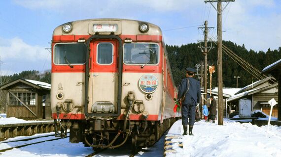
[[99,43],[97,49],[97,63],[111,64],[113,61],[113,45],[111,43]]

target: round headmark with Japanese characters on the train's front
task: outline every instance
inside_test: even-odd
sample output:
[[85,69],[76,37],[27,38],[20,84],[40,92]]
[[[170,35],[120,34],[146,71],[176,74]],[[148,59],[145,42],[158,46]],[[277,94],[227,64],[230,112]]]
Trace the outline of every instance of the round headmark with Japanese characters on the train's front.
[[158,79],[152,74],[145,74],[140,78],[139,86],[144,93],[153,93],[158,87]]

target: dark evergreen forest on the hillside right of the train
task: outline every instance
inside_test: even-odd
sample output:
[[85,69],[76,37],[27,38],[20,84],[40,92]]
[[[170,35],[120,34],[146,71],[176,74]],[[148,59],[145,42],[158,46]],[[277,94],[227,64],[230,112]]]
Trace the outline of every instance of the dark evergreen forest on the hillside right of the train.
[[[267,52],[253,50],[246,50],[244,44],[242,46],[234,44],[231,41],[223,41],[223,45],[228,47],[232,52],[246,60],[253,67],[262,71],[266,66],[281,59],[281,47],[279,50],[270,50]],[[214,44],[213,44],[214,45]],[[166,49],[171,64],[172,74],[176,85],[180,83],[181,78],[185,77],[185,68],[192,67],[195,69],[196,64],[204,65],[204,55],[201,49],[198,48],[199,44],[187,44],[182,46],[169,46],[166,45]],[[208,52],[208,66],[214,65],[217,70],[217,48],[216,46]],[[201,69],[201,68],[199,68]],[[209,69],[209,68],[207,68]],[[201,72],[199,71],[199,74]],[[204,73],[203,73],[204,74]],[[234,76],[240,76],[238,79],[238,87],[245,87],[252,82],[257,81],[252,77],[250,73],[243,69],[227,54],[222,52],[222,78],[223,87],[236,87],[236,78]],[[196,78],[196,77],[194,77]],[[210,87],[210,74],[208,72],[208,87]],[[212,74],[212,87],[217,87],[217,73]]]

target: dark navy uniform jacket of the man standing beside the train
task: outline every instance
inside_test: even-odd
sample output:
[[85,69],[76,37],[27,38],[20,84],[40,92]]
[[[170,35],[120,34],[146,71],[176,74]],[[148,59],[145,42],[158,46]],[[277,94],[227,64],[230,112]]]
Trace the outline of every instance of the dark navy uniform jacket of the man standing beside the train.
[[182,104],[195,104],[201,102],[201,87],[198,80],[194,78],[183,78],[181,79],[180,86],[178,88],[178,94],[177,99],[180,99],[183,94],[188,89],[188,81],[189,79],[189,90],[185,94],[185,100],[184,102],[181,102]]

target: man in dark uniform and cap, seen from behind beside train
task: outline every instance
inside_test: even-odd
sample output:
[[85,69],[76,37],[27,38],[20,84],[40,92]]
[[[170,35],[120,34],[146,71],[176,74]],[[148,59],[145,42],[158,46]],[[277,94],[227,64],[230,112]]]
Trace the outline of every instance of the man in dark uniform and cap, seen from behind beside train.
[[188,134],[193,135],[192,129],[195,122],[196,105],[201,101],[200,83],[198,80],[192,78],[194,73],[195,70],[193,68],[186,68],[186,78],[181,80],[178,88],[177,100],[185,96],[185,99],[181,102],[182,135],[187,135],[187,124],[189,125]]

